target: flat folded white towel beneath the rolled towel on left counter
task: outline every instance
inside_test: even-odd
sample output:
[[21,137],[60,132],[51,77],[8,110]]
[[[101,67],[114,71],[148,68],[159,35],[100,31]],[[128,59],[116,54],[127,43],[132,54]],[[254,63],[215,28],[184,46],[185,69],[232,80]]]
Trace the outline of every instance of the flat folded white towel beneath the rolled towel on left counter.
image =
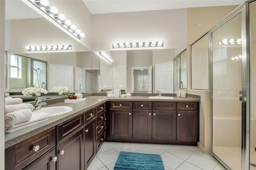
[[[45,112],[40,112],[40,113],[32,113],[30,121],[26,121],[23,123],[19,123],[14,125],[12,128],[6,129],[6,130],[12,130],[14,128],[18,128],[18,130],[26,127],[30,127],[32,125],[36,125],[37,123],[42,122],[42,120],[47,121],[48,120],[48,115]],[[40,121],[40,122],[39,122]],[[6,131],[5,132],[8,132]],[[16,130],[15,130],[16,131]],[[12,131],[13,132],[13,131]],[[8,132],[10,133],[10,132]]]

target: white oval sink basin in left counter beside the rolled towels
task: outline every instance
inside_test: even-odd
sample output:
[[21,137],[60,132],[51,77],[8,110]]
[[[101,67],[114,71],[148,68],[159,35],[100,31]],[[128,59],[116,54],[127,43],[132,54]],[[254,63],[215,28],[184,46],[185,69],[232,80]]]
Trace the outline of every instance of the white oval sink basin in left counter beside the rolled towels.
[[48,117],[54,117],[54,116],[63,115],[72,110],[73,108],[68,106],[52,106],[52,107],[42,107],[40,110],[34,111],[34,113],[45,112],[47,113]]

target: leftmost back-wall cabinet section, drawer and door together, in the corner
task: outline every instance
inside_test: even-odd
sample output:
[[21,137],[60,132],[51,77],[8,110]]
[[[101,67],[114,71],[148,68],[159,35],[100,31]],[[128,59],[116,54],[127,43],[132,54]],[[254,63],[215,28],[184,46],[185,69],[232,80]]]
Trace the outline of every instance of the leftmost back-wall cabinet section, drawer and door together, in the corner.
[[110,138],[132,138],[131,101],[110,101],[110,111],[108,118]]

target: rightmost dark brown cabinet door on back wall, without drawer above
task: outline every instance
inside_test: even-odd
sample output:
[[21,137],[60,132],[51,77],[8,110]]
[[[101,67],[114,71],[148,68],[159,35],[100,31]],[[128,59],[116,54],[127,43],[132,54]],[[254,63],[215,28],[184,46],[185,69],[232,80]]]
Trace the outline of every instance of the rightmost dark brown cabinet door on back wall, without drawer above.
[[197,142],[198,111],[177,111],[177,140]]

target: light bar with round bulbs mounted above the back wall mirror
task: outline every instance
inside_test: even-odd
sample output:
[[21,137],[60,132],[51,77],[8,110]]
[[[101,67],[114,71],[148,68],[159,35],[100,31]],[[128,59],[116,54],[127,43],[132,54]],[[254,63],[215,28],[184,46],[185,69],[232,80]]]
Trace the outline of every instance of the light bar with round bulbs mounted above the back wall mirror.
[[112,48],[130,48],[130,47],[163,47],[164,42],[120,42],[120,43],[112,43]]

